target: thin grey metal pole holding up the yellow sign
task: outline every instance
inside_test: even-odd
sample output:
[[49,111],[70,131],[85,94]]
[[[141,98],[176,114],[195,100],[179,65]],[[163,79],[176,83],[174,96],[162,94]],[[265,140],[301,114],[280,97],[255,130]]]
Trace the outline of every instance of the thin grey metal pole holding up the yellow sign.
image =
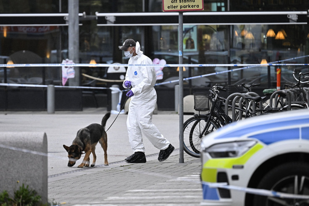
[[[179,64],[183,64],[183,13],[179,12]],[[179,66],[179,163],[184,163],[184,67]]]

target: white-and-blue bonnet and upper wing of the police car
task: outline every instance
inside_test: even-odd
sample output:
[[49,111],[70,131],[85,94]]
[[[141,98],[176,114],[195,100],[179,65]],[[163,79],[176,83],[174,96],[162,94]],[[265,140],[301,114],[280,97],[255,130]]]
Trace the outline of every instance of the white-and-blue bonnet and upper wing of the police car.
[[[300,130],[300,128],[302,128]],[[203,139],[203,145],[223,142],[228,138],[256,138],[265,144],[286,139],[309,139],[309,110],[299,109],[260,115],[234,122],[212,132]]]

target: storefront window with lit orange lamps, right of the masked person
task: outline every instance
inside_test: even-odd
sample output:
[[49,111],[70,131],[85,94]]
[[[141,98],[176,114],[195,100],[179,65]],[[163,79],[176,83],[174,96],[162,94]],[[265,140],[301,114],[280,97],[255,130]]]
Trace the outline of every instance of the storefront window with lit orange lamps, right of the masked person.
[[[293,29],[291,29],[293,27]],[[272,29],[273,36],[267,32]],[[154,26],[152,59],[166,61],[167,64],[177,64],[178,56],[178,27]],[[229,31],[231,36],[229,37]],[[288,31],[288,32],[286,32]],[[184,25],[184,64],[260,64],[263,59],[277,63],[306,63],[306,32],[298,25]],[[282,37],[279,37],[282,32]],[[277,37],[276,37],[277,36]],[[230,48],[228,40],[231,39]],[[230,56],[229,56],[230,55]],[[281,61],[287,60],[288,61]],[[278,62],[281,61],[281,62]],[[241,68],[232,67],[231,69]],[[185,68],[184,77],[223,72],[227,67],[190,67]],[[190,73],[188,70],[190,70]],[[271,66],[271,81],[276,81],[276,69]],[[292,72],[307,71],[306,66],[283,66],[283,81],[293,81]],[[177,79],[177,68],[164,67],[163,78],[158,82]],[[267,86],[267,66],[256,66],[231,72],[231,83],[241,82],[261,83]],[[284,73],[284,74],[283,74]],[[207,81],[227,84],[228,73],[207,77]],[[202,86],[196,85],[196,86]]]

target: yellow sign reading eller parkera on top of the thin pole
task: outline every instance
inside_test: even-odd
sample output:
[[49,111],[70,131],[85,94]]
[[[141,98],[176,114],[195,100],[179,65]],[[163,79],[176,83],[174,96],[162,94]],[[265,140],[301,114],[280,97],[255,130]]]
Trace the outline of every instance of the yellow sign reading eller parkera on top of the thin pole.
[[163,0],[163,11],[204,10],[203,0]]

